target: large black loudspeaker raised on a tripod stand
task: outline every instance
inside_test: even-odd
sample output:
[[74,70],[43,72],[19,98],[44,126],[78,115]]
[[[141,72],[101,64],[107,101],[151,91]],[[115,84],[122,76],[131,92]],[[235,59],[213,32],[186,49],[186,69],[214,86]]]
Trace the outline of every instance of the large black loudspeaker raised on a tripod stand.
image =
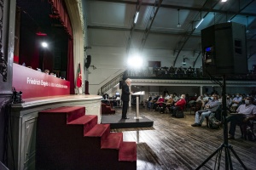
[[204,76],[247,74],[246,27],[235,22],[201,30]]

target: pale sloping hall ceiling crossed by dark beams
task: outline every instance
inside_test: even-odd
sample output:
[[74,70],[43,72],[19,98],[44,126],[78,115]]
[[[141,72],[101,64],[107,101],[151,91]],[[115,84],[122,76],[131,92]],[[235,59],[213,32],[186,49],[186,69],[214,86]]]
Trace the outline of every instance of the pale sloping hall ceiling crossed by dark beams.
[[[251,53],[256,52],[256,1],[254,0],[87,0],[83,6],[88,46],[160,48],[175,52],[201,52],[201,30],[231,21],[248,26]],[[178,10],[179,23],[178,23]],[[133,24],[139,11],[137,24]],[[195,29],[199,20],[201,25]],[[129,38],[130,37],[130,38]],[[129,45],[131,44],[131,46]],[[254,55],[253,55],[254,56]]]

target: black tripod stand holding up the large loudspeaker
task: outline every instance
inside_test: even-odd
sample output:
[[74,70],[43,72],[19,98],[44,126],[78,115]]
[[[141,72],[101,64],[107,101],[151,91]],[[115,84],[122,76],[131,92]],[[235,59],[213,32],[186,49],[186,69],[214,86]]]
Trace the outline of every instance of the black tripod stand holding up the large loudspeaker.
[[[223,128],[224,128],[224,143],[221,144],[217,150],[215,150],[211,156],[208,156],[207,159],[205,161],[203,161],[201,163],[201,165],[199,167],[196,167],[196,170],[199,170],[201,167],[205,166],[205,164],[207,163],[207,161],[209,161],[212,156],[215,156],[217,154],[219,154],[218,157],[218,169],[219,169],[219,163],[220,163],[220,159],[221,159],[221,153],[222,150],[224,149],[225,152],[225,169],[228,170],[233,170],[233,165],[232,165],[232,160],[231,160],[231,156],[230,156],[230,150],[233,153],[234,156],[236,156],[237,161],[239,161],[239,163],[241,164],[241,167],[243,167],[244,169],[247,169],[247,167],[243,164],[243,162],[241,161],[241,159],[239,158],[239,156],[237,156],[236,151],[233,149],[232,145],[229,144],[228,142],[228,122],[227,122],[227,105],[226,105],[226,80],[225,80],[225,76],[223,76],[223,84],[220,84],[220,86],[222,87],[222,119],[224,122]],[[217,156],[216,156],[216,160],[217,161]]]

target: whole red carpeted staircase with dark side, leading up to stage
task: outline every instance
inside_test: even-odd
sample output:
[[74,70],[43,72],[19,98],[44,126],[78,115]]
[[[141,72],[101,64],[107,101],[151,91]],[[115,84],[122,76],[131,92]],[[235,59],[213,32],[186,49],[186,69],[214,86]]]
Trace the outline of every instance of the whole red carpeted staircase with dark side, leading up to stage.
[[85,108],[67,106],[38,113],[36,169],[136,169],[136,142],[110,133],[109,124]]

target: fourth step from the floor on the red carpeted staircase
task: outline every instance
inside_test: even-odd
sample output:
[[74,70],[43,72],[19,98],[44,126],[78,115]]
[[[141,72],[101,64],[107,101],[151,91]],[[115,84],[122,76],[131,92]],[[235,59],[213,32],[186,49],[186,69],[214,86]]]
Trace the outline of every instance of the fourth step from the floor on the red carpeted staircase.
[[73,122],[69,122],[69,125],[77,125],[82,124],[84,125],[84,134],[89,132],[92,127],[95,127],[97,124],[98,117],[93,115],[84,115],[79,117],[78,119],[74,120]]

